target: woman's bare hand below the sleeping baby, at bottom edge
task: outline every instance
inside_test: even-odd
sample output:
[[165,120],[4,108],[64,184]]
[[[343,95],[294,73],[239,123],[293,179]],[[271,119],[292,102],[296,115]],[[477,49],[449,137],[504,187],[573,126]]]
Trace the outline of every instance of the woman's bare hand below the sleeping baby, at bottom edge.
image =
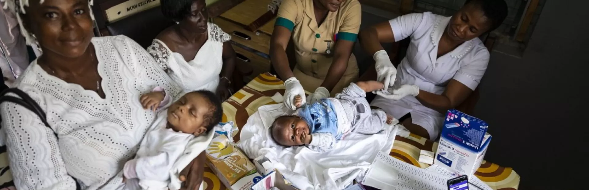
[[180,181],[182,181],[181,190],[197,190],[203,183],[205,152],[196,156],[190,164],[180,172]]

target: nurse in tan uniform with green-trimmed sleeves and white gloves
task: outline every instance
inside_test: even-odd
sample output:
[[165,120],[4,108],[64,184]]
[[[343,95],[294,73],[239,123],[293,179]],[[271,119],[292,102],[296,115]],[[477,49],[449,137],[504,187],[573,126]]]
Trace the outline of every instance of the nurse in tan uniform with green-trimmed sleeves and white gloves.
[[[294,96],[309,102],[342,91],[358,78],[352,55],[362,10],[358,0],[284,0],[270,41],[270,58],[284,85],[284,104],[295,109]],[[286,46],[292,36],[296,66],[291,70]],[[306,98],[303,98],[305,101]]]

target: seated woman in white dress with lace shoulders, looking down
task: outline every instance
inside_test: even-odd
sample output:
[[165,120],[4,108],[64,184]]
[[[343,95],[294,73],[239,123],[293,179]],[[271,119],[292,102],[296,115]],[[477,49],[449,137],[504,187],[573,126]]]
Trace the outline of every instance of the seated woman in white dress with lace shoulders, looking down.
[[157,35],[147,51],[184,92],[207,89],[221,101],[229,98],[236,58],[231,36],[207,22],[204,0],[162,0],[161,11],[176,24]]

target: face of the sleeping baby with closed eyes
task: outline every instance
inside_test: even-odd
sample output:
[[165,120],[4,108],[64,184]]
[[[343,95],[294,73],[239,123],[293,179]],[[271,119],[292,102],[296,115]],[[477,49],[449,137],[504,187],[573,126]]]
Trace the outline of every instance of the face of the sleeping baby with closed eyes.
[[203,95],[188,93],[168,108],[168,128],[196,136],[203,134],[207,131],[204,115],[210,108],[209,101]]

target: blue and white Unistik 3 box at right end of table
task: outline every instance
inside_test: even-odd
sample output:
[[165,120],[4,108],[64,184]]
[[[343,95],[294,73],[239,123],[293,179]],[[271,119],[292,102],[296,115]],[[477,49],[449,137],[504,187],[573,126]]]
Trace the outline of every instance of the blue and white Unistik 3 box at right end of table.
[[462,175],[474,174],[487,152],[491,135],[489,125],[481,119],[451,109],[444,118],[444,128],[435,155],[435,165]]

